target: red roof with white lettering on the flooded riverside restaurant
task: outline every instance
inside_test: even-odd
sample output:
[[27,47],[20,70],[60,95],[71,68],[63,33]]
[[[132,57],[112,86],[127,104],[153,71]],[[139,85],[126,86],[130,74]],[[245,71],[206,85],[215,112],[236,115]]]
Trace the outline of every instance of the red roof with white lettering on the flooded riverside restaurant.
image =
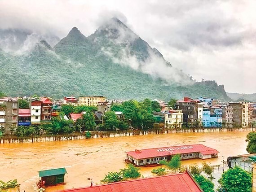
[[135,159],[146,159],[150,157],[168,156],[170,155],[170,153],[175,155],[175,154],[198,153],[198,152],[203,153],[204,155],[219,153],[216,149],[206,147],[203,144],[149,148],[149,149],[129,151],[126,153],[134,157]]

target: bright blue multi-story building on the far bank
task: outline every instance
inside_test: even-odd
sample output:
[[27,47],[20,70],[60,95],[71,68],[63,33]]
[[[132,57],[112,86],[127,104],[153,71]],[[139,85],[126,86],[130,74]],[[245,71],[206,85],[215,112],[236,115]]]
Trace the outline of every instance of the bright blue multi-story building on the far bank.
[[218,106],[203,108],[203,127],[221,127],[222,108]]

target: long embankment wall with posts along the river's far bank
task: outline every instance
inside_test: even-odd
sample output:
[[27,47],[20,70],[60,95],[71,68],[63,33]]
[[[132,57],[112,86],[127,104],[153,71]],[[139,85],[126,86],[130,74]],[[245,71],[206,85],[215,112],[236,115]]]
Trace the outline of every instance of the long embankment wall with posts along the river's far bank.
[[[124,137],[132,135],[158,135],[158,134],[172,134],[172,133],[201,133],[201,132],[234,132],[234,131],[255,131],[256,128],[184,128],[184,129],[168,129],[168,130],[129,130],[129,131],[90,131],[89,139],[106,138],[106,137]],[[1,136],[0,144],[8,143],[37,143],[49,141],[65,141],[65,140],[84,140],[88,139],[83,133],[73,133],[66,135],[40,135],[31,137],[16,137],[16,136]]]

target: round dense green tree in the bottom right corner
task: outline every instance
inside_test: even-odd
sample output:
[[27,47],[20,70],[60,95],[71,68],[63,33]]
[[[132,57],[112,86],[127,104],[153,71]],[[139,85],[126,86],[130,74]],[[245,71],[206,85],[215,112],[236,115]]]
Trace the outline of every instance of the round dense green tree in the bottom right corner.
[[252,192],[252,175],[238,166],[226,170],[218,182],[221,185],[219,191]]

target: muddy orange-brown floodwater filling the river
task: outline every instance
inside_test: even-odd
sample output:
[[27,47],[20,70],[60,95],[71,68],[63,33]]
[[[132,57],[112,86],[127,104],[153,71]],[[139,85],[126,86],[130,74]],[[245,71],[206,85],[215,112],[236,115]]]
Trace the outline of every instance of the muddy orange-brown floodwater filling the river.
[[[135,148],[156,148],[182,144],[204,144],[217,149],[218,158],[207,163],[219,165],[222,156],[246,154],[245,132],[174,133],[138,135],[91,140],[70,140],[42,143],[0,144],[0,180],[18,179],[21,191],[33,192],[38,171],[66,167],[66,185],[47,188],[48,192],[100,183],[109,171],[125,167],[125,151]],[[203,160],[182,161],[182,165],[201,164]],[[150,176],[152,167],[141,167],[141,175]]]

